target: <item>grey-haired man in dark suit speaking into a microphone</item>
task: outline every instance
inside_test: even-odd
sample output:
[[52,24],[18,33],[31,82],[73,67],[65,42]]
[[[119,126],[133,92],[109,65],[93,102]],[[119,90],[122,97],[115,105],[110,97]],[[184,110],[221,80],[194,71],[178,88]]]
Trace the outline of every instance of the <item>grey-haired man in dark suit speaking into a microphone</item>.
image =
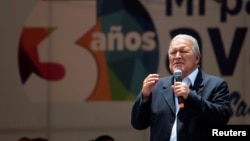
[[[186,34],[175,36],[168,49],[169,69],[182,72],[160,78],[149,74],[132,108],[135,129],[150,127],[151,141],[206,141],[210,127],[224,126],[231,117],[228,84],[199,68],[197,40]],[[178,107],[178,97],[184,108]]]

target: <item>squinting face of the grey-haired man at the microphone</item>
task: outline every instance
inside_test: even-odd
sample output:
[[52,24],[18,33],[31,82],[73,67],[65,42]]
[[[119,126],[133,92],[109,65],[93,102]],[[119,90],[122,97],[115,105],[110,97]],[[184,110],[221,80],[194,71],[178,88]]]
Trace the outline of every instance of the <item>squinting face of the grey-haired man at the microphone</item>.
[[187,39],[176,39],[169,47],[169,68],[182,71],[183,77],[189,75],[198,65],[200,54],[195,55],[193,44]]

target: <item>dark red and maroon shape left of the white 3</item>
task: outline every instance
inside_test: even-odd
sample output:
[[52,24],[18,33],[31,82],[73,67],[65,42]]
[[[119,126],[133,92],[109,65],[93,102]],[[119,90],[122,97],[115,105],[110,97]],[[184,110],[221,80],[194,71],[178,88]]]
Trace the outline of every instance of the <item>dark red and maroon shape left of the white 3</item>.
[[24,84],[31,73],[46,80],[60,80],[65,75],[64,67],[59,63],[41,62],[38,45],[46,39],[55,28],[24,27],[19,42],[19,70]]

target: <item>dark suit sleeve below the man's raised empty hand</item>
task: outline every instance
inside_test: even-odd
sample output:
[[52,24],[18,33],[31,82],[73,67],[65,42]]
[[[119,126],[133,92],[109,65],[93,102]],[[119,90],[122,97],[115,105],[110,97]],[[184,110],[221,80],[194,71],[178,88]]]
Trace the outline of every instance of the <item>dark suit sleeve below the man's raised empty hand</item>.
[[142,93],[139,93],[132,107],[131,124],[135,129],[143,130],[149,127],[150,123],[150,101],[142,99]]

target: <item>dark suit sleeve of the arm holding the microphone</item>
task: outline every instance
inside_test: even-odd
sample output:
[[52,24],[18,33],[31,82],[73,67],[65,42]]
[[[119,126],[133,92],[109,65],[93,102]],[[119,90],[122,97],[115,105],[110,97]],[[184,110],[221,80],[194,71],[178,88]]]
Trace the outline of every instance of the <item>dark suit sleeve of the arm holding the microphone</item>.
[[229,89],[222,79],[205,82],[203,91],[192,91],[185,103],[199,120],[207,124],[225,125],[231,117]]

